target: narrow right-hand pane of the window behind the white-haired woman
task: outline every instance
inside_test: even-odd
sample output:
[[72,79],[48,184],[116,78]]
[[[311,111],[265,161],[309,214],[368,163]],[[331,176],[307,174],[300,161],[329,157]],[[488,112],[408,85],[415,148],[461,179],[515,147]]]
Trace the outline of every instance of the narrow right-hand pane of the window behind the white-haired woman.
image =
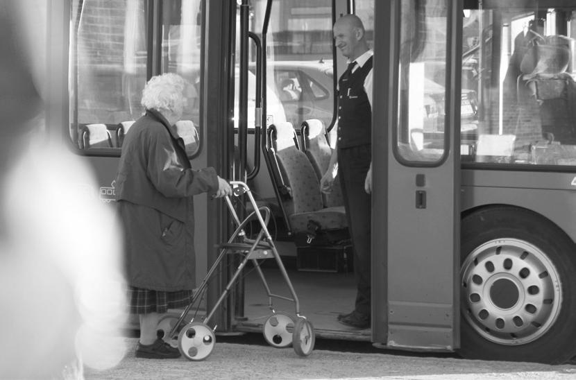
[[162,9],[162,73],[176,73],[189,83],[187,105],[178,135],[186,153],[198,149],[200,127],[201,0],[164,1]]

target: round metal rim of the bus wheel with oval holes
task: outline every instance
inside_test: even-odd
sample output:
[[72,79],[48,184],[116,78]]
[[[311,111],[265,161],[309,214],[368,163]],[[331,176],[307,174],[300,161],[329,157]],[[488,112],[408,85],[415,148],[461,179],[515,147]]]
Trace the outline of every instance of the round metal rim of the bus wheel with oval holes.
[[492,342],[531,342],[558,316],[557,270],[544,252],[526,241],[499,239],[480,245],[464,261],[461,279],[462,313]]

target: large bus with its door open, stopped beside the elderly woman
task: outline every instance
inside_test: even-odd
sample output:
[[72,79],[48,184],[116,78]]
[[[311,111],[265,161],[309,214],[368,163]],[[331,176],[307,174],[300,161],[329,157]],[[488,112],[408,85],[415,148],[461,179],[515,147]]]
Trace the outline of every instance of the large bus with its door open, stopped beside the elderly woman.
[[[248,182],[273,210],[316,336],[470,359],[575,356],[573,1],[51,0],[44,12],[47,132],[92,167],[102,207],[114,207],[146,80],[174,72],[193,88],[179,129],[192,167]],[[361,330],[336,320],[355,298],[346,225],[298,230],[300,180],[276,166],[281,128],[294,128],[295,155],[312,125],[334,146],[346,60],[332,24],[348,13],[374,51],[373,306]],[[223,202],[195,202],[202,279],[233,221]],[[230,273],[210,283],[206,307]],[[246,270],[211,328],[261,331],[262,297]]]

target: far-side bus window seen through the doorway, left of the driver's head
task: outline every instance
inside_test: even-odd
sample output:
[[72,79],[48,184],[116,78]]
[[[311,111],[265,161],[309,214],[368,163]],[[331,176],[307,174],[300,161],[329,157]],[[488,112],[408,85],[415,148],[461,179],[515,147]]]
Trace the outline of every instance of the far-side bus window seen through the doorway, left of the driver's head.
[[[262,30],[267,1],[253,1],[253,29]],[[332,1],[277,1],[266,36],[269,123],[334,118]],[[253,71],[253,65],[251,65]]]

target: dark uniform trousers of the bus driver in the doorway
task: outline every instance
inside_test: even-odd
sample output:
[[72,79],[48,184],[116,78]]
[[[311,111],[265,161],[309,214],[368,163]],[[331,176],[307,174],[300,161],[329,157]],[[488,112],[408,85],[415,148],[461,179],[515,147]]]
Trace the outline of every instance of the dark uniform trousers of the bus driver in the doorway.
[[354,252],[355,311],[366,317],[371,315],[371,195],[364,181],[371,159],[370,145],[338,148],[338,176]]

